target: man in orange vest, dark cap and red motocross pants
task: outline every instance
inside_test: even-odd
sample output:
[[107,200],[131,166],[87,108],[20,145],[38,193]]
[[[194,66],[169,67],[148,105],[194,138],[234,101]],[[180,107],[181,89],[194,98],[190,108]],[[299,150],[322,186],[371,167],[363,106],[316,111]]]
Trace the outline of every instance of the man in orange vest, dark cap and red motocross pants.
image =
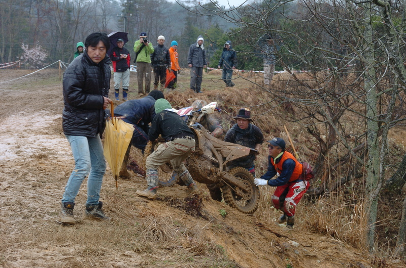
[[[295,224],[295,208],[309,188],[309,181],[303,180],[303,166],[289,152],[285,151],[285,141],[274,138],[268,141],[268,170],[260,178],[255,178],[256,186],[268,185],[276,187],[272,203],[283,213],[278,219],[280,224],[293,229]],[[275,180],[270,180],[277,175]]]

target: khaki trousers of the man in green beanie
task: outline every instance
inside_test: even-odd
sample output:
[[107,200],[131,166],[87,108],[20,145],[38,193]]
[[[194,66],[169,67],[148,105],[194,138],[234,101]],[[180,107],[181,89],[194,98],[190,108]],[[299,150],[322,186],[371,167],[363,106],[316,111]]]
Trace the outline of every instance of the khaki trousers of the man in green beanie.
[[[179,174],[179,177],[182,178],[186,186],[189,186],[193,183],[193,179],[186,166],[183,164],[183,161],[185,161],[192,151],[194,151],[194,145],[195,141],[191,137],[175,139],[171,142],[159,145],[158,148],[147,157],[145,163],[147,170],[151,170],[152,172],[158,170],[159,166],[171,162],[175,172]],[[158,182],[156,181],[156,183]]]

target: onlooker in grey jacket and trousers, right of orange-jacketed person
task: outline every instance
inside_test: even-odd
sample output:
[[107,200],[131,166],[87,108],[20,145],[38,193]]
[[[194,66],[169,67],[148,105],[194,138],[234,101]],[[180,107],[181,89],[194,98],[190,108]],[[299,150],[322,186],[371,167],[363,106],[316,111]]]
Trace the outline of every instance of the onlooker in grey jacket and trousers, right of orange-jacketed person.
[[196,42],[190,45],[187,56],[187,63],[190,67],[190,89],[196,93],[201,93],[200,86],[203,68],[207,66],[204,42],[203,37],[199,35]]

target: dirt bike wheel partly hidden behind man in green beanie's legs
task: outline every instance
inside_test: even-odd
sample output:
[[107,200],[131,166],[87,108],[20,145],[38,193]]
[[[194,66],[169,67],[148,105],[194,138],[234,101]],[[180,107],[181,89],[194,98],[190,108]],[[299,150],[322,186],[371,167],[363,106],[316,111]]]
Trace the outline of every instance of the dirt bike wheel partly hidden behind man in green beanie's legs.
[[[143,161],[146,163],[147,157],[152,154],[155,149],[163,143],[162,141],[156,142],[151,142],[149,141],[147,143],[147,146],[145,147],[144,151],[144,157]],[[172,165],[170,163],[166,163],[165,166],[159,167],[158,168],[158,185],[161,187],[167,187],[167,186],[172,186],[176,184],[179,181],[178,174],[172,170]]]

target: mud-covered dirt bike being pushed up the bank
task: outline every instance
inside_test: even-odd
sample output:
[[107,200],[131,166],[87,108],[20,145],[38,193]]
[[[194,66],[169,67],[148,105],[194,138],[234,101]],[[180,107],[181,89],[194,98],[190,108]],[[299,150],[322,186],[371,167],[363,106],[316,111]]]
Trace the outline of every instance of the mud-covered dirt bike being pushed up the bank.
[[[179,110],[179,115],[187,116],[186,122],[193,130],[196,141],[195,152],[186,160],[185,165],[196,182],[216,184],[220,187],[227,204],[244,213],[254,213],[258,208],[260,194],[258,187],[254,185],[253,175],[243,167],[228,170],[227,163],[258,152],[249,147],[214,138],[205,127],[195,123],[199,117],[219,110],[216,105],[217,103],[213,102],[198,110],[193,110],[193,107]],[[162,142],[162,138],[148,142],[144,158],[146,159]],[[170,163],[162,165],[158,173],[161,187],[172,186],[179,181]]]

